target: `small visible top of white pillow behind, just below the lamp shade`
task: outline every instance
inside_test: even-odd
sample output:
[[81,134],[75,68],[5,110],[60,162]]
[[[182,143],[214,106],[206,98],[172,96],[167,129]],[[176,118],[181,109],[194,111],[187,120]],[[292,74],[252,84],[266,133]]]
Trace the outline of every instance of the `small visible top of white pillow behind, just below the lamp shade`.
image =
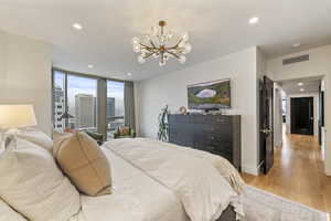
[[29,128],[29,129],[20,130],[15,136],[21,139],[31,141],[38,146],[41,146],[42,148],[49,151],[52,151],[53,140],[51,139],[51,137],[49,137],[46,134],[44,134],[41,130]]

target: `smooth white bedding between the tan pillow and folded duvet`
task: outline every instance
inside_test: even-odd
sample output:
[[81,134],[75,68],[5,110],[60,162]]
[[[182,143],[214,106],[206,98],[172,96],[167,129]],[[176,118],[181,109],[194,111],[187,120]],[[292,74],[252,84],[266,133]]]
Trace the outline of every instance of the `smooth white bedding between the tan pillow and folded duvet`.
[[189,221],[181,202],[169,189],[110,150],[114,190],[109,196],[82,196],[79,221]]

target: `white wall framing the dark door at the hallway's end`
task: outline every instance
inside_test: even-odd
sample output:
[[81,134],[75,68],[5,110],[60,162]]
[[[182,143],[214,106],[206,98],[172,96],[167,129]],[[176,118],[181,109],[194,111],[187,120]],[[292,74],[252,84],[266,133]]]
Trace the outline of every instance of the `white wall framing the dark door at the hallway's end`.
[[292,97],[313,97],[313,135],[319,135],[319,94],[318,93],[302,93],[289,94],[286,97],[286,133],[291,133],[291,98]]

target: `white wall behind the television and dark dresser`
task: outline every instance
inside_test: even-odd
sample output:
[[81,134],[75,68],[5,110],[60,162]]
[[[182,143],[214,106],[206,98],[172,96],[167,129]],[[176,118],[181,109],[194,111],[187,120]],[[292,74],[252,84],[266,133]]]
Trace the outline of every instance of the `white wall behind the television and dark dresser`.
[[216,60],[136,83],[137,117],[141,136],[157,137],[158,115],[168,104],[171,112],[188,106],[189,84],[232,80],[231,114],[242,115],[243,170],[257,173],[257,49],[249,48]]

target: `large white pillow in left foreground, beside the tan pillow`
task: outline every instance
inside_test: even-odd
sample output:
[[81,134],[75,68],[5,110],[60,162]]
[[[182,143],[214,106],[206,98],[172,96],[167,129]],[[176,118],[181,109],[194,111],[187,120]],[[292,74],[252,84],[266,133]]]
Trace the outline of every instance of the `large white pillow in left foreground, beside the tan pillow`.
[[66,221],[81,208],[79,193],[51,152],[15,138],[0,155],[0,197],[33,221]]

